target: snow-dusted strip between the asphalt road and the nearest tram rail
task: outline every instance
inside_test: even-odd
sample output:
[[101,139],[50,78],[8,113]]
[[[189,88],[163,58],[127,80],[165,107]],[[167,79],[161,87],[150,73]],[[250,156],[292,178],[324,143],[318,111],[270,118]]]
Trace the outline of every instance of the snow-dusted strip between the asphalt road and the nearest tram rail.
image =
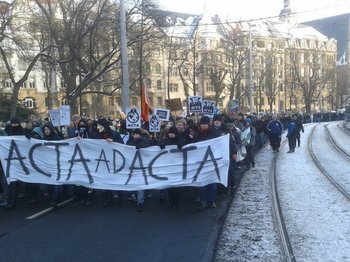
[[281,261],[271,215],[270,146],[256,156],[245,172],[222,229],[215,261]]

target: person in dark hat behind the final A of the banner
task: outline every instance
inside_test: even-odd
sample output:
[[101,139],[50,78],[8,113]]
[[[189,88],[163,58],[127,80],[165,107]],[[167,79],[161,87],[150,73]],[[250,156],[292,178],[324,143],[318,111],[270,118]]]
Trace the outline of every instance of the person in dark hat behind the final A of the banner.
[[[219,134],[215,132],[210,125],[210,118],[208,116],[202,116],[199,120],[199,130],[195,138],[196,142],[206,141],[213,138],[219,137]],[[215,208],[216,200],[216,183],[208,184],[200,187],[200,203],[197,207],[198,210],[202,210],[206,207]]]

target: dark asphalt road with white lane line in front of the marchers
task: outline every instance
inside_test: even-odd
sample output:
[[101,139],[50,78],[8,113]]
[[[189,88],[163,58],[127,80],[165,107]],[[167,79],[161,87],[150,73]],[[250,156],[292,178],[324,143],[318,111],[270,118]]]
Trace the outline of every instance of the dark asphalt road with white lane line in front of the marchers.
[[52,209],[43,197],[34,206],[19,199],[14,210],[0,208],[0,260],[212,261],[231,198],[197,211],[195,195],[184,188],[174,210],[153,191],[143,212],[126,192],[110,207],[103,207],[101,194],[90,207],[68,201]]

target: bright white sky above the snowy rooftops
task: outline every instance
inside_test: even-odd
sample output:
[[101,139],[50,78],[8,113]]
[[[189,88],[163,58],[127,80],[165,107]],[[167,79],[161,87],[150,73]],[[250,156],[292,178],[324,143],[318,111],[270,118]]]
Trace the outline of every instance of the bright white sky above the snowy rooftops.
[[[283,0],[157,0],[165,10],[200,14],[220,14],[231,20],[278,16]],[[350,0],[290,0],[299,22],[350,13]]]

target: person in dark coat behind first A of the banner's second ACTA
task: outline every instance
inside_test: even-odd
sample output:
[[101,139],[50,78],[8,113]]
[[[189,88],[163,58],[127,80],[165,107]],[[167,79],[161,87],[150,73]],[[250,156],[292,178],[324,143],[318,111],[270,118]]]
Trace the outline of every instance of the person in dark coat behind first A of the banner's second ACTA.
[[[126,143],[129,146],[134,146],[136,149],[150,147],[151,140],[146,138],[145,136],[142,136],[142,130],[141,128],[135,128],[132,131],[132,135],[130,136],[128,142]],[[132,199],[133,194],[129,198]],[[137,211],[143,211],[144,210],[144,204],[145,204],[145,190],[139,190],[137,192]]]

